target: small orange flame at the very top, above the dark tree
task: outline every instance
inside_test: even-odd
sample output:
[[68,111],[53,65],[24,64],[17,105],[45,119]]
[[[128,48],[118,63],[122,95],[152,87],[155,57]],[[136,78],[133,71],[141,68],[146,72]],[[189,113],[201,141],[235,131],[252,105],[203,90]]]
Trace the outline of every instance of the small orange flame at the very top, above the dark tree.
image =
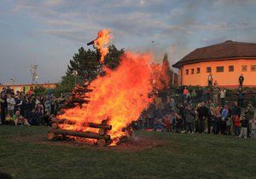
[[110,31],[108,29],[103,29],[102,31],[98,32],[98,36],[94,41],[94,45],[96,49],[99,50],[101,54],[100,63],[104,62],[104,58],[108,55],[108,47],[106,45],[109,43],[110,40]]

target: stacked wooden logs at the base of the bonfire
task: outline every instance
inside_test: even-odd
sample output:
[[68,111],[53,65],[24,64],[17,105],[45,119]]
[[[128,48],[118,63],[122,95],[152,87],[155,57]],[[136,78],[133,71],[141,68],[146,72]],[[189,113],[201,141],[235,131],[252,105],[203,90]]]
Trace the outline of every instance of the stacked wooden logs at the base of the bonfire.
[[84,123],[80,124],[81,127],[95,128],[98,132],[90,131],[77,131],[77,130],[64,130],[61,129],[61,124],[73,125],[75,122],[68,119],[51,118],[51,129],[48,131],[47,138],[49,141],[58,138],[65,138],[66,136],[84,137],[88,139],[95,139],[96,144],[100,147],[109,145],[111,143],[111,137],[107,134],[108,130],[112,129],[112,126],[108,124],[107,120],[102,120],[101,124],[96,123]]

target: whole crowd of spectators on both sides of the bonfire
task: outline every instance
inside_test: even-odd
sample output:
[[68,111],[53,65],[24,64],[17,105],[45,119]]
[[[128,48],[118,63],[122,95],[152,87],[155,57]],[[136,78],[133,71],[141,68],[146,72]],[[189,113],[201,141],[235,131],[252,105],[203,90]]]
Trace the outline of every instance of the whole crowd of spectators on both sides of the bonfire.
[[[240,91],[240,90],[239,90]],[[215,85],[197,90],[177,88],[166,98],[155,98],[135,123],[135,128],[177,133],[234,135],[256,138],[256,118],[251,102],[243,107],[243,98],[226,102],[226,90]],[[35,95],[3,89],[0,97],[0,124],[49,125],[49,118],[59,112],[55,95]]]

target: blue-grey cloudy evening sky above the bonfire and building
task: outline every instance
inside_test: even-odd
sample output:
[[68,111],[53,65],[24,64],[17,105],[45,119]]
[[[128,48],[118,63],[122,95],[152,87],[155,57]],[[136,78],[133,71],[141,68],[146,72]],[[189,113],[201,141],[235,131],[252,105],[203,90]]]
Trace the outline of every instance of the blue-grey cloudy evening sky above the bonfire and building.
[[[119,49],[170,64],[226,40],[256,43],[253,0],[1,0],[0,83],[61,80],[73,54],[108,28]],[[154,43],[152,43],[154,41]]]

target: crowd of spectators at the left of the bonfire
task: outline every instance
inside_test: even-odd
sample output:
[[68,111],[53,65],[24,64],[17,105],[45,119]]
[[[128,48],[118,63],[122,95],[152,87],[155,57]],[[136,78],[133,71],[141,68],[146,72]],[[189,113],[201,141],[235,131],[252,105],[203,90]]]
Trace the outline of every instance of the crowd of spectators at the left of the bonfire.
[[43,125],[49,124],[51,115],[58,111],[55,95],[35,95],[33,89],[25,92],[4,89],[0,96],[0,124]]

